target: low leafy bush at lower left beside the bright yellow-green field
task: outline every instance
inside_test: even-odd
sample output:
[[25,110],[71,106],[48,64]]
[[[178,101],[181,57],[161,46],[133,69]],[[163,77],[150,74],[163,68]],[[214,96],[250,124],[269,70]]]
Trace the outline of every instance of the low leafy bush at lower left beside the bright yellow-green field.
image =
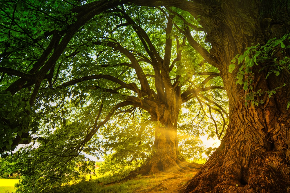
[[78,181],[94,168],[94,162],[87,161],[83,155],[59,159],[56,153],[61,152],[49,152],[52,146],[56,144],[40,145],[38,148],[28,146],[14,155],[21,176],[17,192],[48,191],[72,180]]

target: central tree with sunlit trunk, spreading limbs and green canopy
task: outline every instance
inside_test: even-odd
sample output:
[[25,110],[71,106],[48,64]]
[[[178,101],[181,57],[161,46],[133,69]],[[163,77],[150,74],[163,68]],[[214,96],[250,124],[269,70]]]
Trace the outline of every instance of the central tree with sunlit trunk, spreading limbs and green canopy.
[[[53,128],[55,122],[61,122],[63,131],[75,130],[73,136],[68,131],[70,143],[60,156],[70,158],[80,153],[114,114],[132,113],[140,108],[148,112],[154,123],[155,141],[150,159],[137,173],[184,172],[187,167],[199,168],[198,164],[186,162],[178,150],[177,120],[181,106],[193,98],[199,105],[206,106],[219,137],[226,127],[227,112],[223,109],[226,102],[218,101],[217,92],[212,91],[223,90],[219,72],[191,46],[209,47],[202,43],[202,33],[198,33],[202,29],[196,26],[197,21],[188,14],[182,17],[182,12],[172,14],[164,8],[148,10],[136,6],[107,6],[106,9],[110,9],[102,14],[102,9],[97,8],[99,12],[88,17],[84,10],[95,7],[95,3],[99,2],[80,7],[66,2],[60,6],[49,3],[41,6],[41,2],[29,1],[3,3],[7,8],[2,8],[1,35],[5,45],[0,69],[3,72],[2,97],[15,102],[4,101],[2,150],[12,150],[18,143],[28,142],[32,132],[39,133],[37,127],[29,125],[32,122],[29,117],[37,117],[30,109],[35,104],[34,111],[43,113],[41,119],[46,119],[53,108],[63,113],[62,117],[52,113],[58,119],[48,116]],[[65,6],[76,8],[61,10]],[[56,18],[57,14],[63,17]],[[31,25],[38,28],[24,25],[21,18],[28,15]],[[192,22],[191,28],[185,28],[186,32],[195,29],[193,36],[200,44],[193,37],[188,41],[182,33],[186,21]],[[197,49],[206,52],[205,48]],[[74,97],[70,98],[71,95]],[[78,99],[80,110],[70,108],[70,112],[84,114],[88,103],[90,107],[97,106],[97,110],[91,109],[90,119],[80,120],[81,123],[73,122],[76,117],[65,120],[70,115],[64,115],[68,113],[68,106],[64,104],[74,103],[74,98],[78,98],[75,96],[90,99]],[[97,96],[95,101],[93,96]],[[218,116],[220,123],[215,120]],[[80,132],[79,128],[86,123],[87,128]],[[52,131],[46,134],[49,132]],[[44,140],[47,139],[39,139]]]

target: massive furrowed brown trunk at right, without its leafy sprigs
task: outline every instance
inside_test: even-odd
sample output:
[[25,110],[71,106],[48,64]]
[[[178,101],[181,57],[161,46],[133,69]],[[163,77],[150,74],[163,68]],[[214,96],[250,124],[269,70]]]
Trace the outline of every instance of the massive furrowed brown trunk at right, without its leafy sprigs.
[[[289,3],[286,1],[219,1],[215,14],[220,20],[207,26],[211,54],[218,61],[229,96],[230,121],[220,147],[213,153],[182,192],[290,192],[290,73],[266,79],[269,61],[253,67],[253,92],[273,90],[285,83],[276,94],[258,96],[258,106],[245,105],[247,91],[235,84],[238,72],[228,72],[231,59],[246,47],[265,44],[273,37],[289,33]],[[270,19],[269,19],[270,18]],[[202,21],[204,19],[204,21]],[[287,52],[288,51],[288,52]],[[289,57],[289,49],[280,53]],[[279,56],[279,53],[277,53]],[[239,68],[239,67],[238,67]]]

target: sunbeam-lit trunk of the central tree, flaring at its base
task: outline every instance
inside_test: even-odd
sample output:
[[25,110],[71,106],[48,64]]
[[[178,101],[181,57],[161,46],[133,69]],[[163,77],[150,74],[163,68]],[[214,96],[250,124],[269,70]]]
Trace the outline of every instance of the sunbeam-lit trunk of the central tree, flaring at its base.
[[185,169],[202,166],[202,164],[187,162],[178,151],[177,119],[179,110],[180,107],[163,104],[153,111],[154,113],[151,111],[151,119],[155,123],[153,150],[147,163],[133,171],[129,177],[160,172],[181,173],[186,172]]

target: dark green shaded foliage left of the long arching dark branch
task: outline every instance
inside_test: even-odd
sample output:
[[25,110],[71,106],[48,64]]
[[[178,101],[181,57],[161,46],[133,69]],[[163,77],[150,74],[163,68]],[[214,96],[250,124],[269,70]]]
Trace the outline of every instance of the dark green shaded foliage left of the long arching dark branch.
[[[64,30],[64,24],[75,22],[72,5],[80,3],[73,0],[0,2],[0,67],[5,68],[0,78],[1,154],[13,150],[18,143],[29,143],[30,135],[38,130],[35,108],[30,101],[33,84],[20,84],[18,77],[36,78],[30,75],[38,71],[37,61],[49,45],[53,31]],[[23,89],[15,93],[15,87]],[[21,139],[15,140],[17,136]]]

